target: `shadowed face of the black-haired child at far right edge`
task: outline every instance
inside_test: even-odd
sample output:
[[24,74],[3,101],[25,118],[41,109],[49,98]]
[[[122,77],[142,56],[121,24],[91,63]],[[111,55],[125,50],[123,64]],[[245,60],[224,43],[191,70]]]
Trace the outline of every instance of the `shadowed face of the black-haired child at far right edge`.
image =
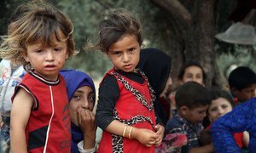
[[232,94],[240,102],[245,102],[248,99],[251,99],[256,96],[256,84],[252,84],[250,87],[243,88],[241,90],[233,89]]

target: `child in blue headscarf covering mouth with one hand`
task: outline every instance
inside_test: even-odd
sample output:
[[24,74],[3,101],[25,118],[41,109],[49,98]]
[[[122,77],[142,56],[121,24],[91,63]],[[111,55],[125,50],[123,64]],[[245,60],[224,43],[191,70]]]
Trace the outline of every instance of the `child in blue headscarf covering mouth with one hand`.
[[67,82],[71,118],[71,152],[96,151],[96,122],[92,112],[96,91],[93,80],[82,71],[61,70]]

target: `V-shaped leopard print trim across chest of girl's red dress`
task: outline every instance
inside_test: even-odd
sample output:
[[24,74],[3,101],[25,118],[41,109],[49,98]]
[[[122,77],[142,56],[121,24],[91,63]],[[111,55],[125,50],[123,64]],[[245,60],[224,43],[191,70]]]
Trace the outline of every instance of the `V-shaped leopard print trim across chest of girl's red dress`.
[[[140,73],[140,74],[143,76],[143,78],[148,82],[148,78],[145,76],[145,74],[143,73],[143,71],[140,71],[139,69],[137,69],[137,72]],[[121,77],[121,76],[119,75],[118,72],[113,71],[112,74],[115,75],[115,76],[118,78],[119,82],[122,82],[122,84],[125,86],[125,88],[126,88],[128,91],[131,91],[131,93],[136,97],[136,99],[137,99],[140,103],[142,103],[142,105],[144,105],[145,107],[147,107],[149,111],[154,110],[155,95],[154,95],[154,90],[153,90],[153,88],[151,88],[151,86],[150,86],[149,83],[148,83],[148,88],[149,88],[149,93],[150,93],[150,95],[151,95],[150,105],[148,105],[148,102],[147,102],[147,100],[145,99],[145,97],[143,96],[143,94],[141,94],[140,92],[138,92],[136,88],[133,88],[129,82],[127,82],[123,77]]]

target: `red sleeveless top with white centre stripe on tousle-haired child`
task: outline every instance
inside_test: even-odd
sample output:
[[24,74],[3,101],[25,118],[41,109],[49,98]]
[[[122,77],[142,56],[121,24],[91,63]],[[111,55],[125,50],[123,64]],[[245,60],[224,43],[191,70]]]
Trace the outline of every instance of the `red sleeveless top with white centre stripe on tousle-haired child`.
[[[50,91],[50,87],[52,93]],[[37,99],[38,103],[34,103],[34,107],[38,104],[38,109],[31,111],[29,121],[26,125],[26,143],[31,142],[31,145],[44,144],[36,147],[29,152],[43,152],[46,147],[46,152],[70,152],[71,134],[70,134],[70,116],[68,109],[68,99],[66,84],[63,77],[60,75],[60,82],[54,85],[49,85],[44,80],[39,80],[31,74],[26,74],[23,81],[20,82],[19,88],[25,88],[29,93]],[[53,107],[51,103],[51,94],[53,98]],[[50,121],[50,118],[54,115]],[[46,128],[44,128],[46,127]],[[48,128],[47,128],[48,127]],[[31,133],[35,130],[45,133],[48,129],[48,139],[39,136],[38,139],[30,140]],[[47,132],[47,131],[46,131]]]

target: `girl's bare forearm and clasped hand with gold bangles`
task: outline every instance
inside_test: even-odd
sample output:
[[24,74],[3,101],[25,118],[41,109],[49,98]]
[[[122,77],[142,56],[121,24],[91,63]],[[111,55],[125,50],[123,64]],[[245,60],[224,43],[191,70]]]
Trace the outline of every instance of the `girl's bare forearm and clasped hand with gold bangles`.
[[154,133],[146,128],[133,127],[131,129],[131,126],[127,126],[124,123],[116,120],[113,120],[113,122],[111,122],[105,130],[107,130],[108,133],[125,136],[125,138],[129,138],[129,133],[131,130],[131,139],[137,139],[141,144],[148,147],[154,145],[156,143],[155,139],[159,137],[157,133]]

